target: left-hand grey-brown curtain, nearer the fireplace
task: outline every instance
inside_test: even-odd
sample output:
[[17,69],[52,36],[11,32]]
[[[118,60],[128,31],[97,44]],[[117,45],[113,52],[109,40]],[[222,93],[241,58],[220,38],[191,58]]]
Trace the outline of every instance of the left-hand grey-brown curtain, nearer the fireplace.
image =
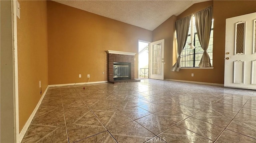
[[190,18],[188,16],[186,18],[182,18],[181,20],[176,21],[176,32],[177,32],[177,43],[178,43],[178,59],[175,65],[172,67],[171,71],[180,71],[180,64],[181,64],[181,53],[186,45],[186,41],[188,38],[188,30],[190,25]]

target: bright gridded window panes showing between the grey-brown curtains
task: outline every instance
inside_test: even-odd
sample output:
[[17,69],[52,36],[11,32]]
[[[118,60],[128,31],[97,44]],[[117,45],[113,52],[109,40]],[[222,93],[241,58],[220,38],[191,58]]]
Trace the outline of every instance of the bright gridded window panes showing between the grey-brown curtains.
[[[194,18],[194,16],[193,16]],[[204,50],[202,49],[197,33],[196,33],[196,24],[195,24],[195,20],[193,22],[193,26],[194,26],[194,46],[195,49],[190,49],[190,46],[188,45],[188,43],[191,42],[191,22],[190,22],[190,27],[189,27],[189,31],[188,31],[188,38],[186,41],[186,45],[184,47],[184,49],[182,50],[182,53],[180,55],[181,57],[181,67],[199,67],[199,63],[202,59],[202,55]],[[212,64],[212,47],[213,47],[213,20],[212,20],[212,27],[211,27],[211,33],[210,33],[210,41],[209,41],[209,46],[207,49],[207,53],[209,54],[210,57],[210,61]]]

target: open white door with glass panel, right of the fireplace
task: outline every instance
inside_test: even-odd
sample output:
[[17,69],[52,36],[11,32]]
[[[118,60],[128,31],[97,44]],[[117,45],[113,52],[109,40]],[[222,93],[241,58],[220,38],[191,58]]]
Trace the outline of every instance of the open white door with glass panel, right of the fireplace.
[[164,39],[150,43],[150,78],[164,80]]

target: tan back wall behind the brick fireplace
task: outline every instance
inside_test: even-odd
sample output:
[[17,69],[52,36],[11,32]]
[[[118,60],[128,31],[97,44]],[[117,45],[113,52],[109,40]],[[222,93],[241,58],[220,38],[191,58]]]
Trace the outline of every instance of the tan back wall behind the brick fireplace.
[[47,4],[49,84],[86,82],[87,74],[90,82],[106,81],[106,50],[137,53],[138,78],[138,40],[152,41],[152,31],[56,2]]

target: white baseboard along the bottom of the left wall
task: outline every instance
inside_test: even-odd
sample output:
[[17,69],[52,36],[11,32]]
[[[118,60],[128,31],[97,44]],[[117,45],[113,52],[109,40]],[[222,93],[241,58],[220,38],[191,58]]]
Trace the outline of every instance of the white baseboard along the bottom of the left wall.
[[29,127],[29,125],[30,125],[32,119],[34,118],[34,116],[35,116],[35,114],[36,114],[36,111],[38,110],[38,108],[39,108],[39,106],[40,106],[42,100],[44,99],[44,96],[45,96],[45,94],[46,94],[48,88],[49,88],[49,85],[47,86],[47,88],[46,88],[46,90],[44,91],[44,94],[42,95],[42,97],[40,98],[40,100],[38,101],[38,103],[37,103],[37,105],[36,105],[34,111],[33,111],[32,114],[30,115],[30,117],[28,118],[28,121],[26,122],[26,124],[24,125],[24,127],[22,128],[22,130],[20,131],[19,136],[18,136],[18,143],[20,143],[20,142],[22,141],[22,139],[23,139],[23,137],[24,137],[26,131],[28,130],[28,127]]

